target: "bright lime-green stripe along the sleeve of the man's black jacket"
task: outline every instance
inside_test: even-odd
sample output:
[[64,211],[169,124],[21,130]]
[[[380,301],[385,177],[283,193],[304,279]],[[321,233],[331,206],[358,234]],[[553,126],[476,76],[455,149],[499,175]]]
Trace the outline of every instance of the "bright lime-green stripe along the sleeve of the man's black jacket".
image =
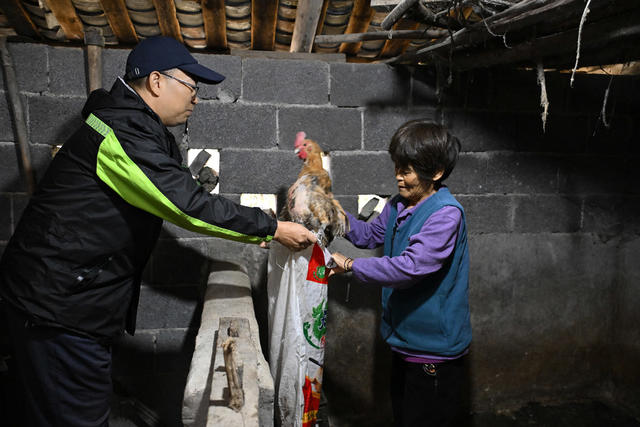
[[269,241],[273,236],[249,236],[227,230],[187,215],[174,205],[127,156],[113,129],[93,114],[86,120],[104,137],[100,143],[96,173],[113,191],[133,206],[170,221],[187,230],[243,243]]

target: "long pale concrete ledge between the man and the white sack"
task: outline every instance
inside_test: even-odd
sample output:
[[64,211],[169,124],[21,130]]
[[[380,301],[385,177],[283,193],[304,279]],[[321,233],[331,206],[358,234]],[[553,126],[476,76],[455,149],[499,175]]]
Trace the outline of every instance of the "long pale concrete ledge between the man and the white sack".
[[[223,396],[223,389],[227,387],[224,369],[223,372],[215,372],[215,375],[213,369],[220,362],[224,366],[222,352],[216,354],[219,348],[216,346],[216,338],[222,317],[245,318],[249,322],[248,341],[253,346],[253,354],[249,357],[247,348],[250,347],[245,346],[239,355],[247,355],[246,360],[243,360],[243,373],[249,374],[255,369],[255,379],[251,379],[253,375],[243,375],[243,389],[247,393],[257,382],[258,407],[255,412],[258,414],[259,424],[273,426],[273,378],[260,347],[249,277],[240,266],[222,262],[213,264],[207,281],[200,329],[184,389],[182,421],[186,427],[206,426],[210,406],[219,406],[216,404],[219,397],[214,399],[214,396]],[[220,376],[224,377],[224,381]],[[252,381],[253,384],[250,384]],[[247,400],[245,402],[248,404]]]

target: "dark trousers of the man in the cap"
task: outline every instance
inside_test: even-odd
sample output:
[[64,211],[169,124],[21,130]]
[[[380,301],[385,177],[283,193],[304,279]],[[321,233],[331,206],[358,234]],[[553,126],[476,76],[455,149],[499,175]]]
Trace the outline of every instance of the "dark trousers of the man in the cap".
[[10,369],[22,385],[25,425],[109,425],[111,348],[93,338],[33,324],[3,304]]

